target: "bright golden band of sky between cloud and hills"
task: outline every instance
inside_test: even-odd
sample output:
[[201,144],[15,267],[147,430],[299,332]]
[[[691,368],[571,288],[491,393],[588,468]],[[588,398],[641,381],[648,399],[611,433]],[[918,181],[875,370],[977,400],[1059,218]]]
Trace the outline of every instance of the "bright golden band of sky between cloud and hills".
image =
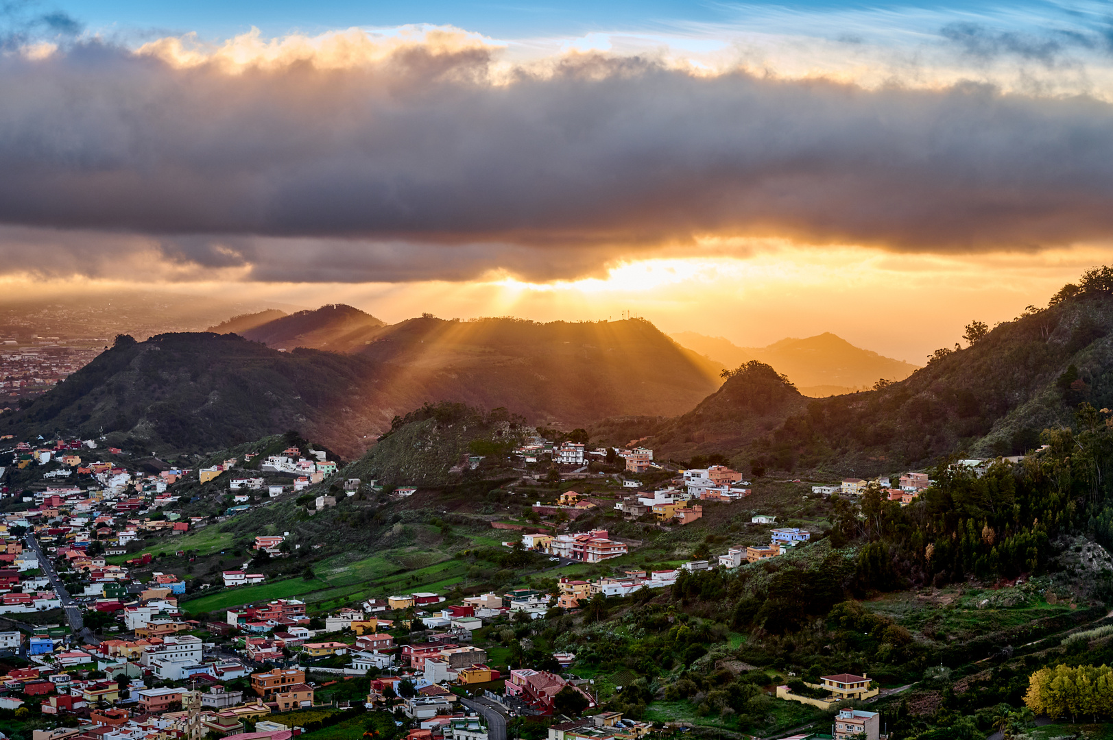
[[[833,332],[883,355],[923,364],[978,318],[1008,320],[1044,304],[1086,267],[1109,263],[1101,246],[1035,255],[898,255],[877,249],[768,246],[747,257],[628,260],[604,276],[530,283],[506,275],[472,282],[236,284],[243,300],[316,307],[347,303],[386,322],[430,312],[443,318],[519,316],[539,322],[618,319],[631,310],[664,332],[725,336],[764,346]],[[142,289],[227,297],[224,275],[167,274]],[[115,280],[0,278],[11,298],[41,293],[132,290]]]

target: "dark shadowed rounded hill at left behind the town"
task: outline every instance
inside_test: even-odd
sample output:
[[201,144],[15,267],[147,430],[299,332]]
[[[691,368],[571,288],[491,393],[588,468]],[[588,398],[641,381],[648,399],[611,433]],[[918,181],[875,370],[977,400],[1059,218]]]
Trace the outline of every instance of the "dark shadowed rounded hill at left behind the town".
[[[18,438],[108,435],[131,451],[220,450],[290,428],[352,457],[390,424],[367,361],[280,353],[235,334],[120,337],[14,414]],[[373,437],[372,437],[373,438]],[[362,443],[362,444],[361,444]]]

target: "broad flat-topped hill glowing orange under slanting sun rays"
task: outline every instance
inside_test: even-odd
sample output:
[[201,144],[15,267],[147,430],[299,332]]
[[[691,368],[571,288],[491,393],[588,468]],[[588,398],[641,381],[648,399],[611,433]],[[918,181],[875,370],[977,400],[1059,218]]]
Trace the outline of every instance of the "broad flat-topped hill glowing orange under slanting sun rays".
[[431,401],[573,425],[680,414],[720,384],[715,363],[642,319],[422,317],[382,329],[358,354],[382,365],[384,383],[424,388]]

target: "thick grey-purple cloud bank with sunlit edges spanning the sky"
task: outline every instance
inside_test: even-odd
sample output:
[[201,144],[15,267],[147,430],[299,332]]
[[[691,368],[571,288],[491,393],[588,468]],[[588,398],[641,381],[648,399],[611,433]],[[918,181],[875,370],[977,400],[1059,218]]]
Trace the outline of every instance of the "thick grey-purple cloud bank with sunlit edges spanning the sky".
[[[1055,51],[952,31],[972,52]],[[348,32],[9,53],[0,100],[0,223],[254,279],[543,278],[705,238],[962,253],[1113,233],[1113,106],[984,85],[515,67],[463,33]]]

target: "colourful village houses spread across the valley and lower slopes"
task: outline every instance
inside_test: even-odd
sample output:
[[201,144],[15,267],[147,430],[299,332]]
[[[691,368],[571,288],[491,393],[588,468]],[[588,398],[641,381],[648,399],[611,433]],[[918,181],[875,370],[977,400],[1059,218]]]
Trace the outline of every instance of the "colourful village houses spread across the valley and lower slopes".
[[[529,634],[525,625],[567,619],[562,615],[598,615],[615,600],[644,603],[670,591],[676,598],[676,588],[688,589],[703,574],[730,578],[761,568],[811,547],[812,535],[821,534],[791,521],[779,525],[772,513],[731,513],[751,500],[754,484],[726,465],[684,468],[654,461],[644,447],[591,448],[535,435],[515,446],[505,464],[518,467],[525,487],[536,485],[535,468],[549,466],[546,475],[558,482],[559,493],[523,504],[519,522],[491,521],[505,554],[487,556],[553,569],[551,588],[526,581],[475,593],[451,586],[395,589],[328,608],[294,596],[249,595],[272,582],[304,582],[284,580],[270,568],[304,554],[303,547],[321,546],[288,531],[255,534],[239,566],[221,569],[208,581],[191,576],[191,566],[176,573],[179,569],[161,563],[193,563],[194,551],[176,543],[260,509],[292,504],[312,522],[367,496],[387,506],[405,504],[420,497],[418,486],[345,477],[341,461],[304,441],[278,438],[255,452],[217,453],[197,467],[158,472],[149,470],[149,461],[92,440],[8,442],[12,472],[40,475],[38,483],[2,490],[0,615],[13,629],[0,634],[0,665],[10,665],[0,711],[41,718],[36,722],[42,729],[32,740],[286,740],[376,712],[392,718],[398,737],[415,740],[505,740],[510,718],[529,719],[526,729],[562,740],[629,740],[676,731],[689,724],[614,711],[621,688],[608,685],[610,701],[603,700],[599,689],[604,684],[594,685],[589,663],[575,652],[523,649],[540,640],[522,639],[514,654],[508,652],[506,632]],[[470,472],[483,461],[470,455],[457,467]],[[992,464],[954,463],[976,475]],[[609,465],[607,472],[599,472],[600,465]],[[933,482],[925,473],[907,472],[810,487],[790,483],[799,484],[804,500],[835,497],[853,506],[873,492],[905,506]],[[199,487],[219,502],[207,515],[191,513],[201,499]],[[709,536],[705,541],[713,546],[701,545],[683,562],[631,565],[629,556],[637,556],[644,542],[629,536],[631,524],[682,531],[708,507],[740,522],[736,529],[746,532],[747,542]],[[622,534],[577,526],[585,520],[620,523]],[[622,564],[608,565],[615,560]],[[581,566],[595,569],[597,575],[560,574]],[[203,600],[228,605],[204,612],[191,608]],[[53,621],[43,621],[46,615]],[[809,717],[808,711],[834,718],[826,736],[794,737],[885,737],[880,712],[867,708],[880,691],[866,670],[847,665],[811,682],[785,672],[781,681],[769,695],[806,708],[805,714],[789,712],[794,721]]]

